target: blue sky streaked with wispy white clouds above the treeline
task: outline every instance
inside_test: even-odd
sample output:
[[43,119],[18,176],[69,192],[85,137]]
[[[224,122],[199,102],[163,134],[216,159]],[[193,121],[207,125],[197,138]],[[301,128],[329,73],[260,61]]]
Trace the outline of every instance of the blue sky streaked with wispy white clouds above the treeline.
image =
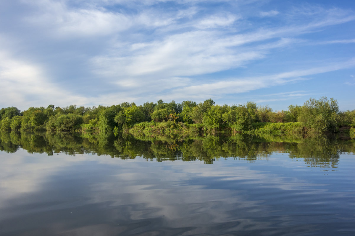
[[0,107],[355,109],[355,1],[3,0]]

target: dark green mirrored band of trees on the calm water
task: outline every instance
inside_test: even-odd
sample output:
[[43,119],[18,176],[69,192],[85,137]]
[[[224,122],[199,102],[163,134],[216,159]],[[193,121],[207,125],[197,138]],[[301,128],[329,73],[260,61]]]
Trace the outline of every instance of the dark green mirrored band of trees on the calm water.
[[[282,142],[286,140],[286,142]],[[29,153],[91,153],[120,159],[142,157],[148,160],[215,160],[233,157],[253,162],[268,159],[273,152],[289,153],[290,158],[303,158],[310,167],[336,168],[342,153],[354,154],[355,140],[302,138],[295,136],[198,137],[173,139],[171,137],[132,137],[105,133],[28,133],[0,132],[0,150],[16,152],[19,148]]]

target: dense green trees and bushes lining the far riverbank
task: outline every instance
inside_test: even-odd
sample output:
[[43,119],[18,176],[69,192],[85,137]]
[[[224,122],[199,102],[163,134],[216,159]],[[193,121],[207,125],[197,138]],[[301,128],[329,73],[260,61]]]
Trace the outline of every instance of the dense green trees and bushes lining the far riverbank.
[[[334,133],[339,127],[350,128],[354,136],[355,110],[339,111],[337,100],[311,98],[304,105],[290,105],[288,110],[273,111],[270,107],[247,102],[244,105],[217,105],[212,99],[203,103],[174,100],[164,103],[146,102],[137,106],[124,102],[104,107],[69,107],[54,105],[16,107],[0,110],[1,130],[53,132],[119,130],[131,133],[186,134],[280,132]],[[352,128],[351,128],[352,127]]]

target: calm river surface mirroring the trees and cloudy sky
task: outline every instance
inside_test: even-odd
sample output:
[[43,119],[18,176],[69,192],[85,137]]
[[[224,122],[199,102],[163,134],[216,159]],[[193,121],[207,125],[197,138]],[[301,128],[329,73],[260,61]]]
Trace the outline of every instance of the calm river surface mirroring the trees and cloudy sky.
[[355,235],[355,140],[12,132],[0,149],[0,235]]

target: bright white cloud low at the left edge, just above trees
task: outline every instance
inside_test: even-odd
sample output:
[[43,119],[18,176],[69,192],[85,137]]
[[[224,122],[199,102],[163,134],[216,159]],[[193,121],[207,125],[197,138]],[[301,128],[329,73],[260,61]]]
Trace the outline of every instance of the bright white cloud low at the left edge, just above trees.
[[0,79],[1,86],[6,88],[0,93],[0,100],[9,101],[21,109],[59,102],[61,106],[86,104],[88,100],[50,82],[39,66],[13,59],[4,51],[0,51]]

